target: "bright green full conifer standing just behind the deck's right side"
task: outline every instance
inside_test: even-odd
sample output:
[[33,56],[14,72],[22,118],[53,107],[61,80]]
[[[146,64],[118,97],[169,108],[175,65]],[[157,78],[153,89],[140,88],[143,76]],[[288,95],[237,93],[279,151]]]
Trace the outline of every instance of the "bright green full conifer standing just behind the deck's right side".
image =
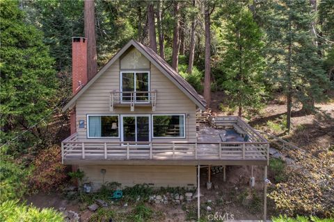
[[234,7],[237,10],[233,10],[225,27],[223,89],[230,95],[230,105],[238,107],[241,117],[244,108],[259,107],[263,97],[263,42],[262,32],[253,21],[252,13],[247,8]]

